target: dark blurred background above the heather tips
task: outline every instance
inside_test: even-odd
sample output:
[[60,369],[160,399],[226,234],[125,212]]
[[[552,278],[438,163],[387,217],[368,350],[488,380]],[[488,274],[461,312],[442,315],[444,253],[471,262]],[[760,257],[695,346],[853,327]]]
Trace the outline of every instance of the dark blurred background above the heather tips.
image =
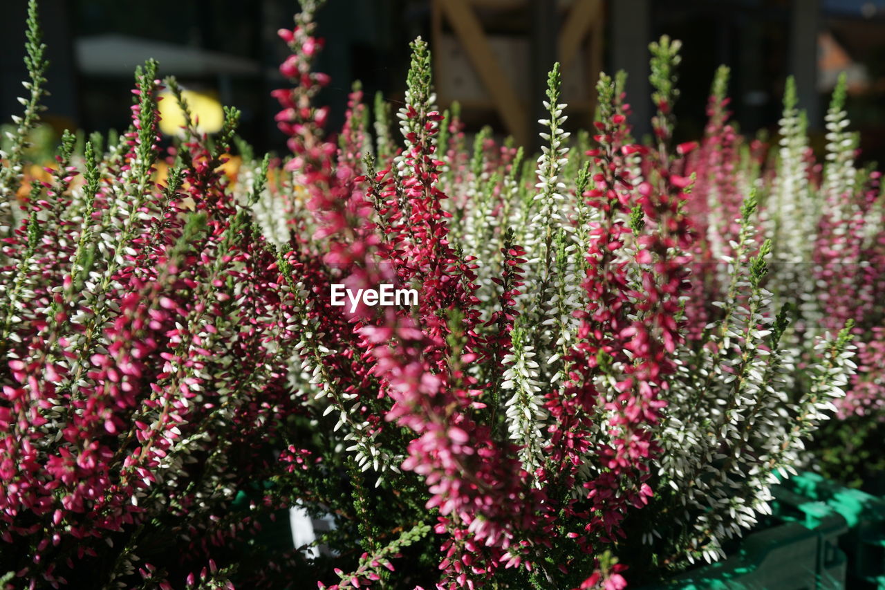
[[[26,0],[4,0],[0,19],[0,121],[19,113]],[[212,119],[219,103],[242,110],[241,135],[259,151],[284,149],[270,90],[286,84],[293,0],[42,0],[52,96],[45,120],[63,128],[126,128],[135,66],[157,58]],[[784,82],[797,79],[800,105],[818,131],[839,73],[849,80],[852,127],[863,159],[885,159],[885,0],[328,0],[319,12],[332,76],[320,101],[341,122],[350,82],[395,105],[403,97],[408,43],[431,43],[439,103],[458,100],[468,130],[535,145],[546,72],[563,63],[570,123],[587,125],[600,70],[625,69],[639,135],[649,130],[647,45],[667,34],[684,43],[678,139],[704,128],[704,104],[720,64],[743,132],[776,130]],[[49,133],[49,131],[47,131]]]

